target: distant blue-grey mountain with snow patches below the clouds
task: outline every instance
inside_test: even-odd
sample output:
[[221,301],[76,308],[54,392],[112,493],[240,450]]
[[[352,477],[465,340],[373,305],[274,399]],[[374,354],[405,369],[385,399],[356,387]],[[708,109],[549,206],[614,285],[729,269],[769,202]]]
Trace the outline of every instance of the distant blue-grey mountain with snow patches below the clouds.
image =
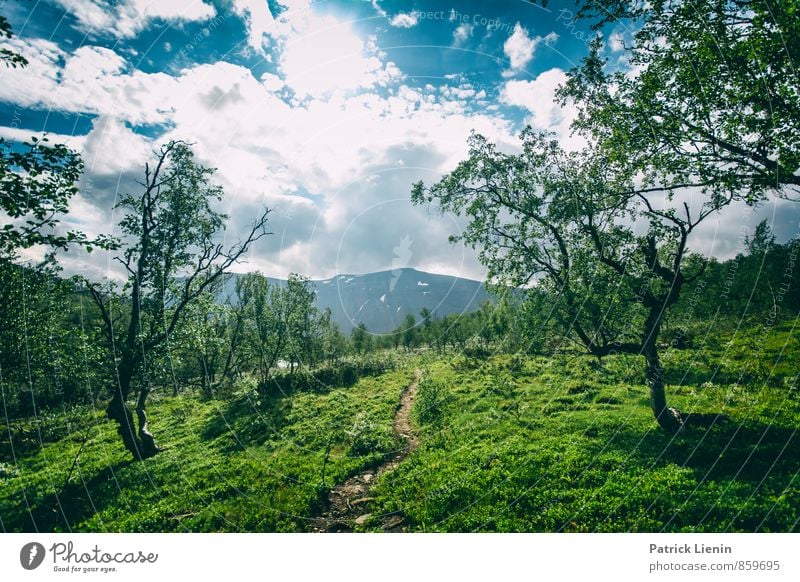
[[[285,283],[280,279],[269,281]],[[419,320],[419,312],[426,307],[443,317],[474,311],[484,301],[491,300],[479,281],[410,268],[337,275],[312,283],[317,291],[317,307],[330,308],[333,320],[346,334],[359,323],[373,333],[387,333],[397,328],[408,314]],[[228,280],[225,287],[224,294],[232,296],[233,280]]]

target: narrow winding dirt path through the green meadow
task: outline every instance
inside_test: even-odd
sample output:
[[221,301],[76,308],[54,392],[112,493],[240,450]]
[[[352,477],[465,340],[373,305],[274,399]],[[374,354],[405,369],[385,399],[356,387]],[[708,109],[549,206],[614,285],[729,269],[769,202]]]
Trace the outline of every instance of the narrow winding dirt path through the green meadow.
[[321,516],[311,520],[309,531],[312,532],[349,532],[364,525],[380,524],[384,531],[400,531],[403,518],[399,515],[381,515],[373,519],[369,505],[374,499],[369,491],[375,480],[387,471],[395,469],[411,452],[417,448],[417,437],[411,429],[411,407],[417,396],[419,377],[422,372],[414,371],[414,379],[400,397],[400,408],[395,414],[392,427],[394,432],[405,442],[405,446],[397,450],[386,461],[350,477],[337,485],[328,495],[328,509]]

